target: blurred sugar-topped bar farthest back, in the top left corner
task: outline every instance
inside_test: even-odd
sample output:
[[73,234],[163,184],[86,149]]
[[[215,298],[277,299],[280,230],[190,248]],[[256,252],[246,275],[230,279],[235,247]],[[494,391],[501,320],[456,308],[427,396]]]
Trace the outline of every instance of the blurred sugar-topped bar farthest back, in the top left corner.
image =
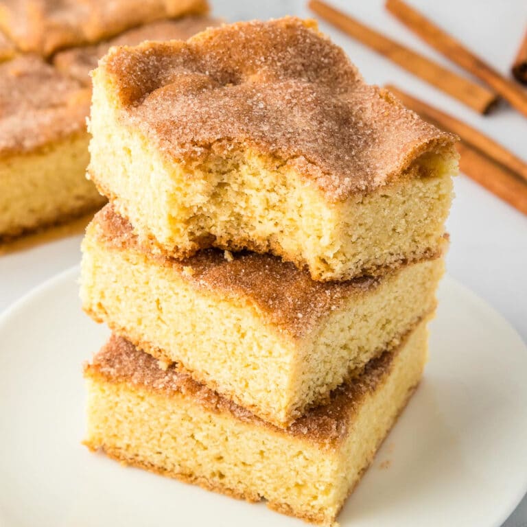
[[0,30],[21,51],[49,56],[143,23],[207,11],[206,0],[2,0]]

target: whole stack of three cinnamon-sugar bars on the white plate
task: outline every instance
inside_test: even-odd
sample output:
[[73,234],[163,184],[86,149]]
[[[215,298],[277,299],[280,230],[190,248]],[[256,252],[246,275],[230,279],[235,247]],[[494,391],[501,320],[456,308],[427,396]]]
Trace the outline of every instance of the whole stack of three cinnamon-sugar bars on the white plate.
[[331,524],[421,378],[455,138],[294,18],[111,50],[90,127],[86,445]]

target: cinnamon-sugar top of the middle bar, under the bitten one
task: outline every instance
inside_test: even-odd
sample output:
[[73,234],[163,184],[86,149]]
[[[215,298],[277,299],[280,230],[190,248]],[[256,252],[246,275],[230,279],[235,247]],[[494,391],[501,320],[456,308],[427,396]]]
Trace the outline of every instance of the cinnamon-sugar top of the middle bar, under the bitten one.
[[205,294],[244,298],[272,324],[296,338],[309,332],[350,296],[371,291],[381,281],[363,277],[319,282],[312,280],[307,271],[298,270],[294,264],[272,255],[233,253],[226,259],[218,249],[202,250],[193,257],[176,260],[152,253],[111,204],[95,215],[88,230],[110,250],[138,252],[156,264],[169,266],[181,279]]

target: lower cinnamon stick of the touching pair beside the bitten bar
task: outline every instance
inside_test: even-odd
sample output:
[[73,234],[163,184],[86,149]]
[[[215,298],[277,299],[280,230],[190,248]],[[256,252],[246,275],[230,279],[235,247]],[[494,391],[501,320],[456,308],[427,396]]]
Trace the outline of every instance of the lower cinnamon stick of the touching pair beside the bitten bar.
[[458,143],[457,148],[461,156],[459,167],[463,174],[518,211],[527,214],[527,185],[515,178],[507,169],[465,143]]

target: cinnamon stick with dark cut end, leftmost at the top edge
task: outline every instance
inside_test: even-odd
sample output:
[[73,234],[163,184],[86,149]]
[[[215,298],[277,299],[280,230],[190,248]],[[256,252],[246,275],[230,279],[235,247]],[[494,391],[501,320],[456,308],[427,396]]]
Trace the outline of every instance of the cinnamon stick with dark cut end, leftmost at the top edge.
[[478,113],[487,113],[497,101],[497,95],[471,80],[465,79],[436,64],[432,60],[417,54],[391,38],[372,30],[320,0],[310,0],[308,6],[321,18],[356,38],[364,45],[389,58],[417,77],[430,82],[436,88],[452,95],[467,104]]

